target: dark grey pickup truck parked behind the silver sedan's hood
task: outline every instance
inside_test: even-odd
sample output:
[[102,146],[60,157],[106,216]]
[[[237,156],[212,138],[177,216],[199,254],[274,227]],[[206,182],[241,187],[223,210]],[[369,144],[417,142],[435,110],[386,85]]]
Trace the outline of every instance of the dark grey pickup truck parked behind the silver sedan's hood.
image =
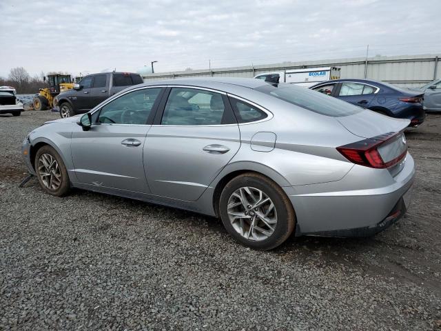
[[75,84],[72,90],[60,93],[54,99],[54,105],[63,118],[83,114],[127,86],[141,83],[141,76],[132,72],[89,74]]

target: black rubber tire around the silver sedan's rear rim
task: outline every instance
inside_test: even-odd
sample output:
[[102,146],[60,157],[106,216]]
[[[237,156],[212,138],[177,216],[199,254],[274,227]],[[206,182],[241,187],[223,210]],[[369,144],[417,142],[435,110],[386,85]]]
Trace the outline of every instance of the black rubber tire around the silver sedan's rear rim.
[[[236,192],[236,190],[245,187],[261,190],[267,195],[267,197],[269,197],[269,199],[271,199],[272,203],[274,204],[277,223],[274,228],[274,232],[267,237],[267,239],[255,241],[243,237],[243,235],[235,230],[232,222],[229,219],[229,214],[227,212],[229,199],[232,197],[232,194]],[[251,209],[249,214],[252,212],[253,210]],[[223,188],[223,191],[220,194],[219,214],[225,229],[227,229],[227,232],[239,243],[255,250],[271,250],[276,248],[278,245],[282,244],[286,239],[288,239],[288,237],[294,231],[294,226],[296,225],[296,214],[294,212],[294,208],[292,207],[291,201],[289,201],[282,188],[280,188],[280,186],[271,179],[254,172],[240,174],[238,177],[235,177],[229,181],[227,185],[225,185],[225,188]]]

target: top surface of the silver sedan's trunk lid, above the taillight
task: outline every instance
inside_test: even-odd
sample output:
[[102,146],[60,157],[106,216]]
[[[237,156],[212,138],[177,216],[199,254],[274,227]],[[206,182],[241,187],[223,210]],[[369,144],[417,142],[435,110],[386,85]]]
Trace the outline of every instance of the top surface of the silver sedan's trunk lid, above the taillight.
[[400,132],[407,128],[410,123],[409,119],[394,119],[372,110],[365,110],[350,116],[337,117],[336,120],[346,130],[362,138],[372,138],[391,132]]

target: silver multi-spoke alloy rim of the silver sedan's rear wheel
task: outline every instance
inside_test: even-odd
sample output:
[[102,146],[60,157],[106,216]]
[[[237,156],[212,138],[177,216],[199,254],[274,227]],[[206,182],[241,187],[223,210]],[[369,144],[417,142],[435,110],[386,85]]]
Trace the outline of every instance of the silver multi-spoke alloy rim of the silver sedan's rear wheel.
[[276,229],[276,207],[257,188],[246,186],[234,191],[228,199],[227,213],[234,230],[251,241],[268,239]]

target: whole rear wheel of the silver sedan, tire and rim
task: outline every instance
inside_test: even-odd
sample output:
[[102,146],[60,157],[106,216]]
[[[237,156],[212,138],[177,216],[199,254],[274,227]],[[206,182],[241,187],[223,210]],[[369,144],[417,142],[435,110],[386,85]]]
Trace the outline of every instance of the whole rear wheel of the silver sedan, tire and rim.
[[291,235],[296,223],[291,202],[280,186],[252,172],[225,185],[219,211],[229,234],[256,250],[276,248]]

